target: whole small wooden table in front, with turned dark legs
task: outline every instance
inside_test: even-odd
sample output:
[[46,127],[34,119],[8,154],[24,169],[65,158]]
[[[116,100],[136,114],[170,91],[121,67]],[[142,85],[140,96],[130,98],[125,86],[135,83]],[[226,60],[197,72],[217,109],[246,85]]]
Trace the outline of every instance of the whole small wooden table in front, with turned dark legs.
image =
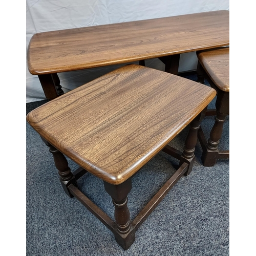
[[[216,91],[195,81],[138,65],[127,65],[39,106],[27,121],[50,148],[63,189],[76,197],[128,249],[135,231],[167,191],[188,175],[201,112]],[[184,151],[167,145],[190,123]],[[179,159],[179,168],[131,221],[127,194],[132,176],[159,151]],[[65,155],[80,167],[71,172]],[[103,180],[115,206],[115,222],[77,187],[90,172]]]

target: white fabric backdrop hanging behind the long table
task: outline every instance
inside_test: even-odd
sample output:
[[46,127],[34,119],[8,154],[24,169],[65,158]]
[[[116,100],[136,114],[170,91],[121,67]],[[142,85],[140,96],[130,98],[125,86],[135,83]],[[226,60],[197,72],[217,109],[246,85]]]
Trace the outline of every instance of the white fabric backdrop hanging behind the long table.
[[[27,48],[33,34],[60,29],[130,22],[197,12],[229,10],[228,0],[27,0]],[[67,92],[120,65],[58,73]],[[146,60],[146,66],[164,70],[159,59]],[[195,70],[195,53],[181,54],[179,72]],[[44,100],[37,76],[27,69],[27,102]]]

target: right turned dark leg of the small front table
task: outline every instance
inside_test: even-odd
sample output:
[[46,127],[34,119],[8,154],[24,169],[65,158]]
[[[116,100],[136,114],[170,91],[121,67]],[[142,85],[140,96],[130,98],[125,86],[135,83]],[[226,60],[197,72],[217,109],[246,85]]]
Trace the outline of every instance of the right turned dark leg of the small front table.
[[188,135],[186,137],[185,146],[183,148],[183,153],[180,158],[180,164],[187,163],[188,170],[185,172],[185,176],[189,175],[194,161],[195,161],[195,146],[197,144],[198,130],[200,128],[200,122],[204,118],[207,108],[205,108],[201,114],[199,114],[189,125]]

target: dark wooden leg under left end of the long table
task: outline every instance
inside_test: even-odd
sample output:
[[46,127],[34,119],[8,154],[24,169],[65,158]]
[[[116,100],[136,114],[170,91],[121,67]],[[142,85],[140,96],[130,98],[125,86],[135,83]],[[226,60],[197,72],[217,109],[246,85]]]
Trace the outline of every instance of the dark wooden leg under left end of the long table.
[[64,94],[57,74],[38,75],[38,78],[47,99],[54,99]]

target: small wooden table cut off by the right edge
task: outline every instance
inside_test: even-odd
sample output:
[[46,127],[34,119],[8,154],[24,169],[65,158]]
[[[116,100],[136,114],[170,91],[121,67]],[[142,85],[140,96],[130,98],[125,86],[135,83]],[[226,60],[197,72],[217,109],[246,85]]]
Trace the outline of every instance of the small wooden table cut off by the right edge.
[[223,132],[223,124],[229,114],[229,47],[198,51],[198,82],[204,83],[204,77],[217,91],[216,118],[208,142],[200,128],[198,135],[203,148],[204,166],[214,166],[217,159],[229,158],[229,150],[219,151],[218,145]]

